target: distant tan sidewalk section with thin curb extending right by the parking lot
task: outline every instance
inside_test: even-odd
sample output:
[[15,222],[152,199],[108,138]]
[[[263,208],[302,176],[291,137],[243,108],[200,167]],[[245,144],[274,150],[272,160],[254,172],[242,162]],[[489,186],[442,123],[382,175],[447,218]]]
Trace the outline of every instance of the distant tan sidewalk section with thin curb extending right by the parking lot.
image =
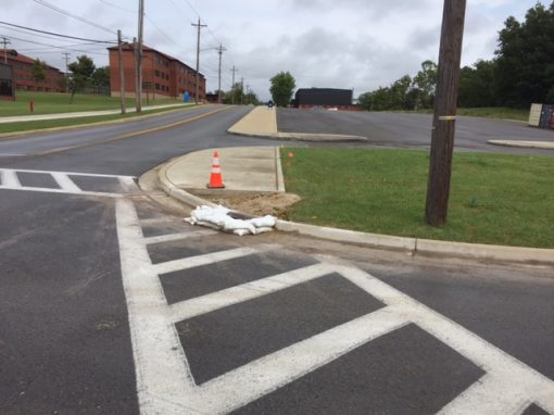
[[343,134],[279,133],[277,109],[256,106],[247,116],[231,126],[227,133],[238,136],[300,141],[367,141],[366,137]]

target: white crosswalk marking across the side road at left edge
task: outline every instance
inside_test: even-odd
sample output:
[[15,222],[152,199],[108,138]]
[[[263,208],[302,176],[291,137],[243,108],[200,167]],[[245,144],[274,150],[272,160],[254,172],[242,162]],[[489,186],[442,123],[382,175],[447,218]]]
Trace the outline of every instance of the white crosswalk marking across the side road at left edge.
[[[36,173],[36,174],[48,174],[50,175],[58,186],[59,189],[47,188],[47,187],[33,187],[22,186],[17,174],[18,173]],[[75,181],[72,180],[71,176],[80,177],[101,177],[101,178],[115,178],[122,186],[123,191],[117,192],[101,192],[101,191],[87,191],[80,189]],[[79,194],[79,196],[96,196],[103,198],[122,198],[125,192],[136,192],[138,187],[135,184],[133,176],[115,176],[93,173],[72,173],[72,172],[47,172],[47,171],[30,171],[30,169],[12,169],[12,168],[0,168],[0,189],[8,190],[24,190],[24,191],[38,191],[47,193],[65,193],[65,194]]]

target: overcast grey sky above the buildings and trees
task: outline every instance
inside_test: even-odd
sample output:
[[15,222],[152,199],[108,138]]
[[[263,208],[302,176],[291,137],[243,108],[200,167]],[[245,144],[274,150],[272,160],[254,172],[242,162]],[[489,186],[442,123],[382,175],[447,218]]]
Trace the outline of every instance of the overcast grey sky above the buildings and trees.
[[[524,20],[536,2],[467,0],[462,64],[492,58],[504,21],[509,15]],[[223,54],[223,89],[230,88],[235,65],[236,80],[244,77],[244,85],[267,99],[269,78],[280,71],[291,72],[297,87],[354,88],[356,97],[388,86],[405,74],[415,75],[423,61],[438,59],[443,0],[144,0],[144,3],[147,45],[194,67],[197,33],[191,23],[200,15],[202,23],[207,24],[202,29],[200,58],[207,90],[217,89],[215,48],[223,43],[227,49]],[[101,40],[115,40],[118,28],[129,39],[137,36],[138,0],[0,0],[0,4],[2,22]],[[97,66],[108,65],[108,52],[102,45],[75,46],[78,41],[24,32],[0,25],[0,36],[10,38],[10,47],[62,71],[65,68],[62,53],[67,51],[73,59],[86,53]]]

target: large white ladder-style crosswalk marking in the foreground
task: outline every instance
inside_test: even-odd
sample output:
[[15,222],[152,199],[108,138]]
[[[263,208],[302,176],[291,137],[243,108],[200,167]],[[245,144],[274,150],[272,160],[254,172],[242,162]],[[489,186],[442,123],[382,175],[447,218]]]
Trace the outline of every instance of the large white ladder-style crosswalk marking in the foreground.
[[[474,332],[372,275],[330,261],[168,305],[159,274],[260,252],[239,248],[153,265],[133,201],[116,201],[122,276],[129,311],[140,412],[227,413],[304,376],[355,348],[415,324],[487,374],[441,414],[520,414],[531,403],[554,414],[554,381]],[[262,250],[272,246],[263,246]],[[167,266],[171,264],[171,266]],[[294,285],[338,273],[386,304],[374,313],[265,355],[197,385],[175,323]],[[182,318],[182,319],[181,319]],[[255,328],[253,328],[255,329]]]

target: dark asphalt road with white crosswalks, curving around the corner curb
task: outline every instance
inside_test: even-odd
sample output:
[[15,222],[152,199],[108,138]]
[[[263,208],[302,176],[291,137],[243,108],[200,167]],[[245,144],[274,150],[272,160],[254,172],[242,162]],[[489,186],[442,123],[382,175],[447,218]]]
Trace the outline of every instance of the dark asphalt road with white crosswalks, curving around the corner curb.
[[153,204],[129,176],[275,146],[226,134],[240,108],[127,137],[214,109],[0,141],[0,413],[554,414],[552,268],[238,238]]

